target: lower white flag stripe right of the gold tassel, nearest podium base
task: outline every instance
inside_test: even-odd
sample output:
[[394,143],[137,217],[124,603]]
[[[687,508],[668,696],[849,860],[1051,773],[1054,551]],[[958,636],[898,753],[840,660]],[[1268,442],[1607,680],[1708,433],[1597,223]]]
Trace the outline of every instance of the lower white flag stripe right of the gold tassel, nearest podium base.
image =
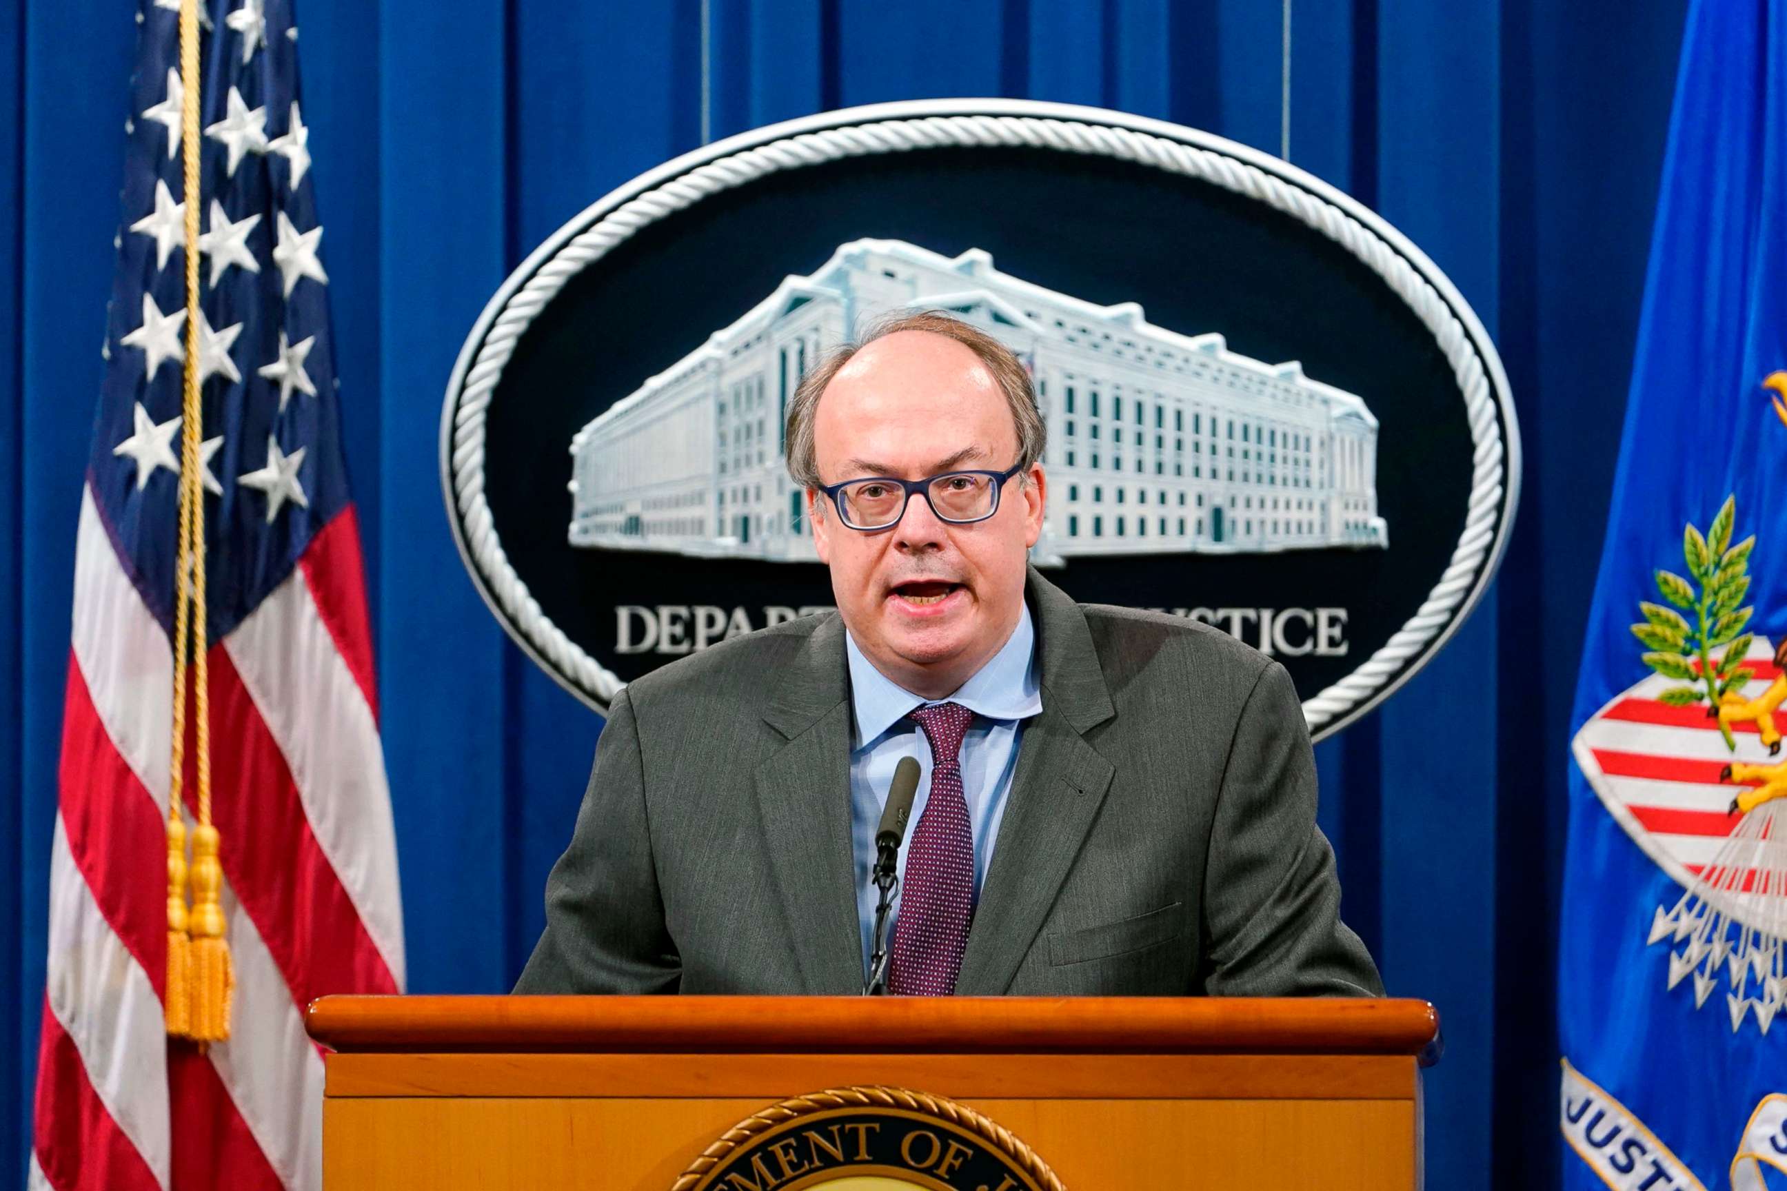
[[236,1012],[231,1037],[209,1050],[211,1066],[268,1164],[289,1191],[323,1180],[323,1061],[304,1034],[304,1014],[256,930],[225,886]]

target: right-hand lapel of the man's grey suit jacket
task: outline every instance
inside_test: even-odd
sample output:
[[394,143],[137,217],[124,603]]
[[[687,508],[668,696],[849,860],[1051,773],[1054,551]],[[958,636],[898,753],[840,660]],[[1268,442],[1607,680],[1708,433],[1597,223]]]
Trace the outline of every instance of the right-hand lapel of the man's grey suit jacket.
[[1042,714],[1024,725],[992,870],[956,980],[963,996],[999,995],[1011,986],[1115,773],[1083,736],[1115,714],[1086,618],[1035,570],[1028,596],[1042,655]]

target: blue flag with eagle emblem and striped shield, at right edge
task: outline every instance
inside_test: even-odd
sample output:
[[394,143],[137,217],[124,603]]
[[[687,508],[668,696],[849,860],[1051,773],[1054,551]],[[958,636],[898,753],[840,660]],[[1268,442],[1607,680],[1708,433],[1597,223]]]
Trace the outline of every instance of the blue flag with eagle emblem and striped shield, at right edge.
[[1787,0],[1699,0],[1573,714],[1573,1191],[1787,1187],[1783,291]]

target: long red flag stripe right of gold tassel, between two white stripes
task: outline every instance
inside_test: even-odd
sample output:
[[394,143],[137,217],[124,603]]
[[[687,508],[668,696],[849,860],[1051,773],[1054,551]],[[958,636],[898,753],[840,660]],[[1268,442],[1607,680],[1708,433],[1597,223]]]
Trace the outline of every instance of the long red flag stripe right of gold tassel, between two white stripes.
[[211,812],[223,836],[223,877],[298,1005],[325,993],[395,993],[229,652],[213,646],[209,661]]

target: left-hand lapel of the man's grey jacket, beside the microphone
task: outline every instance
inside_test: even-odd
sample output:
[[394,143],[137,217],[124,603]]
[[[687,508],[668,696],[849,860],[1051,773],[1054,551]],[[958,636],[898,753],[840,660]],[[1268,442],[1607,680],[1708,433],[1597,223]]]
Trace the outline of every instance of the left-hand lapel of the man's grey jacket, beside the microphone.
[[763,718],[788,737],[756,770],[758,811],[808,993],[861,993],[851,855],[851,704],[843,623],[820,623]]

